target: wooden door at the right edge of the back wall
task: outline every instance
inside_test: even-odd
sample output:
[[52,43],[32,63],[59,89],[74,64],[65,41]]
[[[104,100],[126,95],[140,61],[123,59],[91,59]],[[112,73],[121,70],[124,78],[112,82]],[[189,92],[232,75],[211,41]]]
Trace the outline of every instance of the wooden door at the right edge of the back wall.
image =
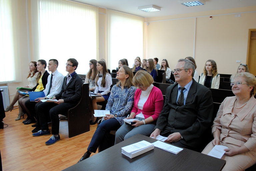
[[256,76],[256,29],[249,29],[247,65],[250,73]]

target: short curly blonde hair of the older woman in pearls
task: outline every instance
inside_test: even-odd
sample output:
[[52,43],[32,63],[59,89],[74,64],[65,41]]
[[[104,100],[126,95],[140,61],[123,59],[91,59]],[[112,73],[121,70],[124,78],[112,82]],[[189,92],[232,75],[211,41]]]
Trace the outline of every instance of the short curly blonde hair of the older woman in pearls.
[[256,78],[254,75],[250,74],[250,73],[246,73],[246,72],[242,72],[242,73],[236,73],[234,75],[232,75],[230,77],[230,80],[235,80],[235,78],[237,77],[243,77],[244,81],[250,85],[253,86],[252,90],[251,90],[251,96],[256,94]]

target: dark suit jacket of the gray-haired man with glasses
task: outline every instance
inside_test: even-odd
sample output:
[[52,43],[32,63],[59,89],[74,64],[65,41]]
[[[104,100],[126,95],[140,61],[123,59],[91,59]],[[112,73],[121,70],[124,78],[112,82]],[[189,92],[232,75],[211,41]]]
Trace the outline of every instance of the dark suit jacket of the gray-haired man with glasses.
[[184,138],[180,142],[196,148],[201,144],[202,134],[212,124],[212,93],[193,79],[185,105],[177,106],[177,94],[177,83],[167,88],[164,107],[159,114],[155,129],[161,129],[161,135],[171,130],[180,132]]

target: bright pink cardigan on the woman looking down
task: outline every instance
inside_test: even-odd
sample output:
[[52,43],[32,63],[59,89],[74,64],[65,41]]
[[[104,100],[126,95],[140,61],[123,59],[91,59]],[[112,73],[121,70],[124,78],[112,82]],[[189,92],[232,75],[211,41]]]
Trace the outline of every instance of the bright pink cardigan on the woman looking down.
[[144,115],[145,119],[152,116],[154,121],[156,121],[164,105],[164,98],[161,90],[155,86],[152,88],[147,101],[143,105],[142,110],[137,108],[140,99],[140,94],[141,89],[137,89],[135,91],[134,105],[131,112],[134,112],[136,116],[142,111],[142,114]]

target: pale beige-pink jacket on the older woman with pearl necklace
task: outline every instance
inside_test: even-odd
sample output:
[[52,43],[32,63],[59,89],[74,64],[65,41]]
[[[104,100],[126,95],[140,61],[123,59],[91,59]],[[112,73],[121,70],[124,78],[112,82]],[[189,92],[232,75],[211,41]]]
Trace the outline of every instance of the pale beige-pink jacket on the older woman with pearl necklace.
[[245,145],[256,152],[256,99],[248,103],[237,114],[232,113],[236,96],[226,97],[221,103],[217,117],[213,121],[212,133],[221,130],[220,141],[241,147]]

